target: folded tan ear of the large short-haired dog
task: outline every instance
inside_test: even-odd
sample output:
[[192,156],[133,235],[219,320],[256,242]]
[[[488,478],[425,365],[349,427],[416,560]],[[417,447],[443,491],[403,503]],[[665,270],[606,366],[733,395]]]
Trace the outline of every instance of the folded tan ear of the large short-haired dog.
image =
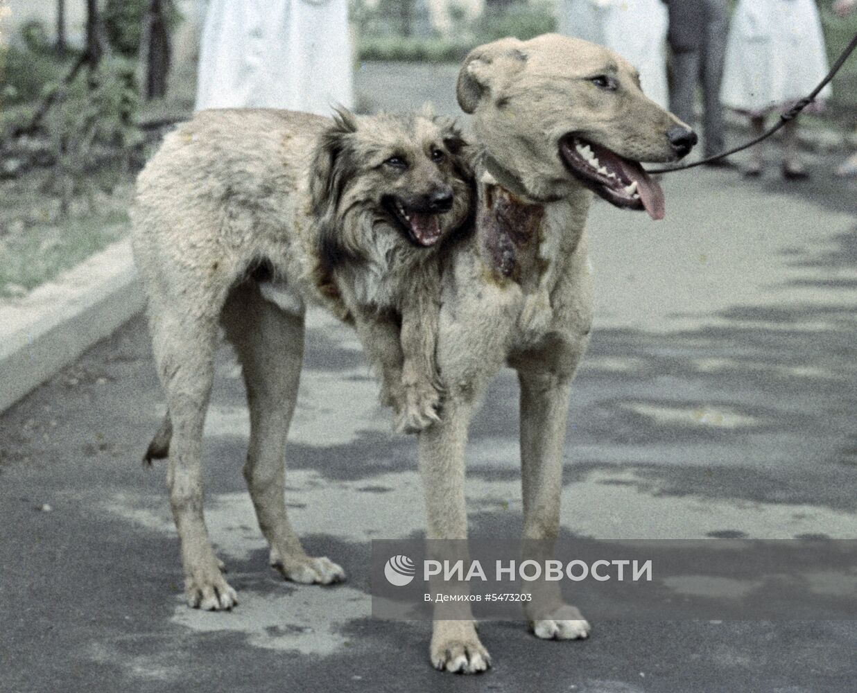
[[527,54],[520,39],[500,39],[493,43],[476,46],[458,71],[455,87],[458,105],[464,113],[476,111],[476,105],[494,87],[501,76],[513,75],[524,69]]

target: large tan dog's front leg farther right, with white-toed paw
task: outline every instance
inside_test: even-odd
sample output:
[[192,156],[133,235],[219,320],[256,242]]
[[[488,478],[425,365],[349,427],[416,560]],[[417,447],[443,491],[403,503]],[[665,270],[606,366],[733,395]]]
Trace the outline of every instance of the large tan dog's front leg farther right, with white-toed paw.
[[[521,387],[521,486],[524,499],[524,559],[553,558],[560,529],[562,448],[566,439],[571,378],[554,373],[518,373]],[[562,600],[558,582],[530,585],[527,617],[536,636],[573,640],[590,625]]]

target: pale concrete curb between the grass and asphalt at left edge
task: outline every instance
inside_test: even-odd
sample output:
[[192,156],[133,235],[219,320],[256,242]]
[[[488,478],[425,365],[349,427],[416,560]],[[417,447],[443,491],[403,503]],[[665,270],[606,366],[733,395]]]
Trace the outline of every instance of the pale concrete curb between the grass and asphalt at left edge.
[[0,303],[0,411],[145,305],[129,239],[21,299]]

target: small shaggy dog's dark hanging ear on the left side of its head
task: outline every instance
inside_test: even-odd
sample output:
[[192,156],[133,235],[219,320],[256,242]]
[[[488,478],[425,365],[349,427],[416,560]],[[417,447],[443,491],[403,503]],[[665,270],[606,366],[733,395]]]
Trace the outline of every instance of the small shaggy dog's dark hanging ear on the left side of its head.
[[336,236],[336,209],[345,188],[348,141],[357,132],[357,116],[343,106],[334,108],[333,123],[319,136],[309,178],[309,197],[318,219],[319,252],[327,266],[339,262],[341,252]]

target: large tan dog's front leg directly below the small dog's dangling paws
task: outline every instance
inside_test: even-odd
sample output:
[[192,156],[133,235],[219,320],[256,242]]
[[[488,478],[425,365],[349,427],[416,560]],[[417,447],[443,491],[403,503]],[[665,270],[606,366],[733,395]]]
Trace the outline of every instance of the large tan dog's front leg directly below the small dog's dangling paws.
[[[427,539],[434,547],[455,541],[451,553],[459,551],[467,539],[467,511],[464,505],[464,445],[473,406],[449,403],[441,421],[420,433],[419,465],[423,479]],[[447,672],[477,673],[490,666],[488,650],[476,635],[476,624],[466,618],[459,604],[452,607],[456,618],[444,618],[449,605],[435,604],[429,655],[432,664]]]

